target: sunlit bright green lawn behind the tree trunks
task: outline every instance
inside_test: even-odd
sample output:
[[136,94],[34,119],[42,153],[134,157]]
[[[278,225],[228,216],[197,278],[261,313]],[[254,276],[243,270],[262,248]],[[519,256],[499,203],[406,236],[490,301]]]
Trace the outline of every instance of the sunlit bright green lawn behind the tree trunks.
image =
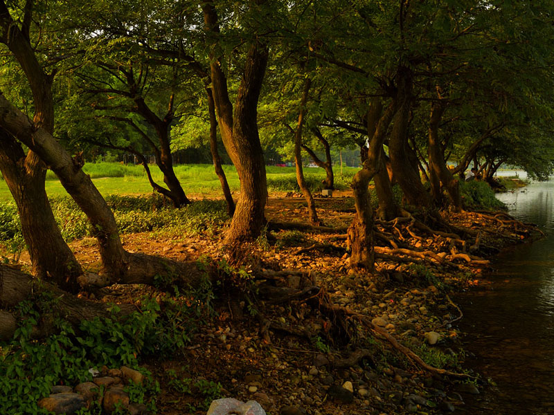
[[[149,194],[152,193],[152,187],[148,183],[148,178],[144,169],[140,165],[121,165],[119,163],[89,163],[84,165],[84,172],[89,174],[92,181],[103,196],[109,194]],[[162,174],[157,166],[150,166],[152,176],[159,184],[163,185]],[[239,190],[239,180],[235,167],[231,165],[224,166],[227,181],[231,191]],[[344,178],[340,180],[340,167],[335,171],[337,183],[350,181],[352,175],[358,169],[354,167],[345,167],[343,169]],[[269,187],[271,183],[279,183],[278,190],[283,183],[295,182],[294,167],[274,167],[267,166],[267,180]],[[321,181],[325,177],[325,172],[319,167],[305,167],[304,172],[307,176],[312,176],[314,181]],[[221,185],[213,170],[213,165],[178,165],[175,167],[175,173],[181,181],[181,185],[186,194],[196,194],[201,196],[220,196]],[[291,189],[292,190],[292,189]],[[66,196],[64,187],[57,180],[52,172],[46,175],[46,192],[48,196]],[[10,201],[12,196],[8,190],[6,182],[0,180],[0,201]]]

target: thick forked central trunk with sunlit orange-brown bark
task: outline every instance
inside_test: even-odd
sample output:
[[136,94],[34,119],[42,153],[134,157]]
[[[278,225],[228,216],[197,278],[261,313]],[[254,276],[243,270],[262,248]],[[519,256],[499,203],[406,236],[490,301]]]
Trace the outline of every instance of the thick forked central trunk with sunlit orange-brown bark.
[[[213,1],[204,1],[202,9],[208,33],[219,35]],[[267,181],[258,135],[258,99],[268,57],[267,45],[259,39],[250,45],[233,109],[221,58],[211,52],[212,91],[220,132],[240,179],[240,197],[226,235],[230,245],[256,239],[266,223]]]

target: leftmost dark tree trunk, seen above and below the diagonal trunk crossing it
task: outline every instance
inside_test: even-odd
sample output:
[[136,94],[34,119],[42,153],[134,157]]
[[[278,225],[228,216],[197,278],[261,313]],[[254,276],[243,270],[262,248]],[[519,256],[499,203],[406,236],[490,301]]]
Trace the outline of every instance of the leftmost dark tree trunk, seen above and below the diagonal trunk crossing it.
[[[27,9],[28,6],[32,6],[32,3],[26,4],[26,13],[30,17],[31,9]],[[30,19],[24,21],[20,30],[6,4],[0,2],[0,42],[8,46],[29,82],[33,93],[35,124],[52,133],[53,77],[44,73],[35,57],[25,34],[29,30],[28,24]],[[75,277],[81,274],[81,268],[62,238],[46,196],[46,166],[33,151],[28,151],[25,155],[23,149],[6,131],[0,133],[0,140],[0,169],[17,205],[33,274],[51,279],[69,291],[75,291]]]

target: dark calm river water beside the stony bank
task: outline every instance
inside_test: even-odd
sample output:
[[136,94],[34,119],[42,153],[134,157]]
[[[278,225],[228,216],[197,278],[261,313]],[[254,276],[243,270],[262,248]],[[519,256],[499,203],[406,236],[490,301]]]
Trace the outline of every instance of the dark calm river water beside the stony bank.
[[467,400],[466,414],[554,414],[554,181],[499,194],[510,214],[533,222],[544,239],[494,258],[492,290],[458,297],[467,365],[496,386]]

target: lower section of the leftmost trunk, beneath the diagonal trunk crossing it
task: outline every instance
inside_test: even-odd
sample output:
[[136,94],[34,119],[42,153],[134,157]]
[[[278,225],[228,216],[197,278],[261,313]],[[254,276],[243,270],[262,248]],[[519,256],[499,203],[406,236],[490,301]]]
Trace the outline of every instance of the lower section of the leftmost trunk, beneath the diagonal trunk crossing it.
[[60,228],[44,190],[44,169],[29,168],[41,163],[36,154],[27,156],[21,146],[0,128],[0,170],[17,205],[21,232],[28,247],[32,273],[75,293],[81,267],[60,234]]

